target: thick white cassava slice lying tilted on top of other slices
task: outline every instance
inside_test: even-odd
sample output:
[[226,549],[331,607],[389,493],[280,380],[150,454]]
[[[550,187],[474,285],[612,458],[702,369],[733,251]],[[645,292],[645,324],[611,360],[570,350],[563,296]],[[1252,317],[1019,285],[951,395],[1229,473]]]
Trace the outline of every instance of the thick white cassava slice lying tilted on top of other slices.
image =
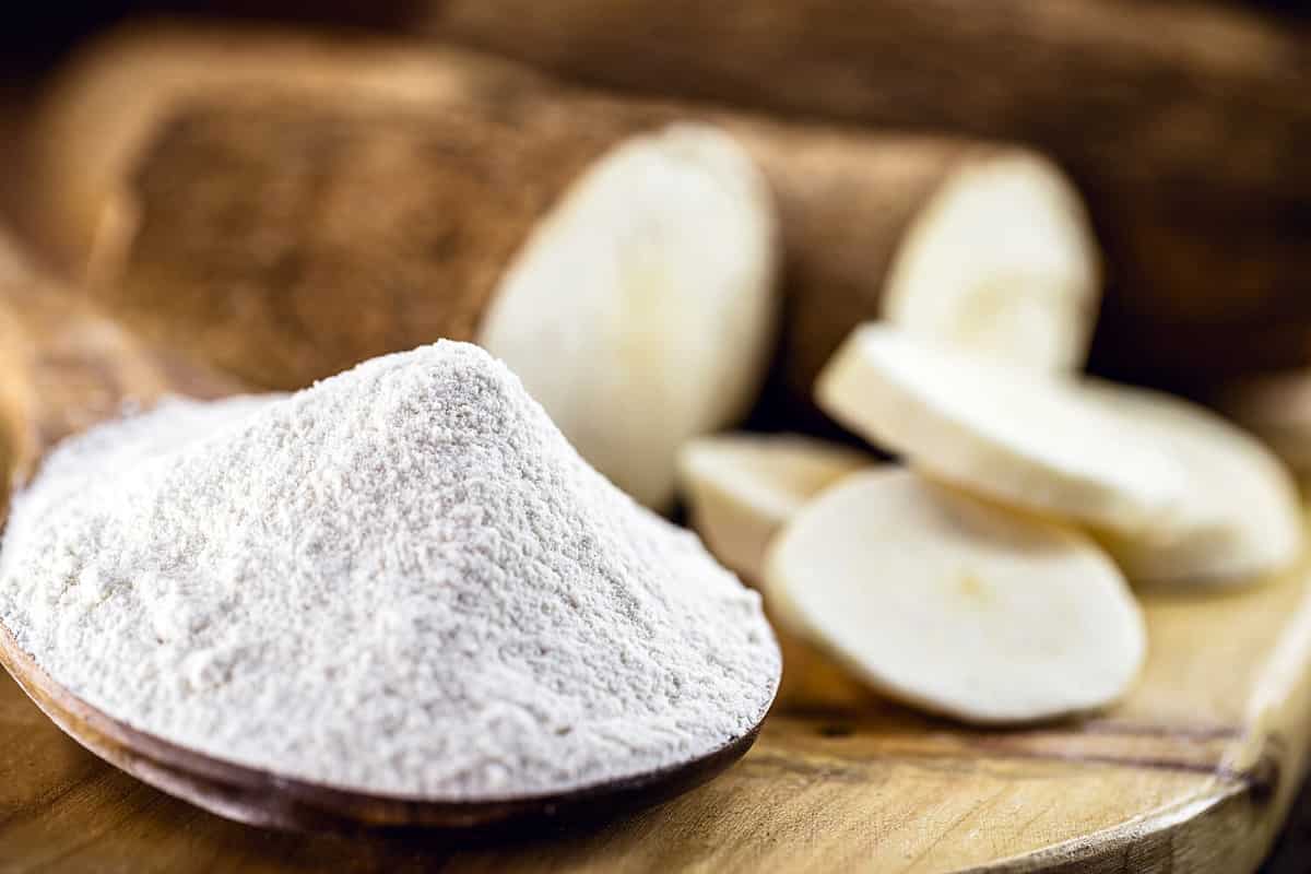
[[819,375],[819,406],[912,465],[986,497],[1122,535],[1172,529],[1180,465],[1071,379],[856,329]]

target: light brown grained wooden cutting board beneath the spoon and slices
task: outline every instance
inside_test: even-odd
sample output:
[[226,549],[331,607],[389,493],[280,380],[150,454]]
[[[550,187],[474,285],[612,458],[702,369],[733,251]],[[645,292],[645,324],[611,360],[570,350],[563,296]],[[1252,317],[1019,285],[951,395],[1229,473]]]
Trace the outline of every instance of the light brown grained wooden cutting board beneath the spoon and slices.
[[[126,388],[198,387],[93,313],[8,284],[14,470]],[[970,731],[881,704],[777,713],[746,759],[663,807],[481,846],[237,826],[102,764],[0,675],[0,873],[1251,870],[1311,744],[1311,566],[1146,605],[1143,680],[1096,719]]]

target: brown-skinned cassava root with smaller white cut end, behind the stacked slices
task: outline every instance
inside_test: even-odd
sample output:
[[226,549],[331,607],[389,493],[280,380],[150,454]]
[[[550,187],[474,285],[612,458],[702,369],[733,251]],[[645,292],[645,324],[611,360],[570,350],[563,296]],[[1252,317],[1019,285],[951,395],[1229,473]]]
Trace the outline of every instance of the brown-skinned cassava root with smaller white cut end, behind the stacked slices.
[[[1078,195],[1049,161],[941,138],[729,128],[779,197],[789,411],[809,402],[847,334],[878,317],[1038,370],[1083,366],[1100,256]],[[1017,214],[1023,221],[996,224]]]

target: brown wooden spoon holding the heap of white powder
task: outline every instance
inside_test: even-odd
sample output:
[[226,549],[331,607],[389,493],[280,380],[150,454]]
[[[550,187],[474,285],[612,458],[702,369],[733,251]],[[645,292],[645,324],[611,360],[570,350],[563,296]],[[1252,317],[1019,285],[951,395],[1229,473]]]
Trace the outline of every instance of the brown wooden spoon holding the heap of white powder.
[[[0,477],[20,485],[60,439],[166,392],[220,397],[232,380],[146,350],[117,325],[34,276],[0,240]],[[0,489],[0,527],[8,493]],[[673,768],[585,789],[479,802],[414,801],[334,789],[224,761],[138,731],[55,683],[0,625],[0,664],[38,708],[105,761],[240,822],[290,829],[430,827],[532,831],[667,801],[739,759],[759,726]]]

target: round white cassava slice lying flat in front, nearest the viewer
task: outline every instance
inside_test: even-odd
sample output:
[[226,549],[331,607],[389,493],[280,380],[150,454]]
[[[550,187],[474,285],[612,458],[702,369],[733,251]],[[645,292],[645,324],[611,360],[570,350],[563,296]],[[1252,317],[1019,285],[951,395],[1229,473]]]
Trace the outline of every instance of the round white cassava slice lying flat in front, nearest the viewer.
[[770,550],[766,596],[877,691],[968,722],[1105,706],[1146,651],[1138,604],[1091,539],[905,469],[808,504]]

